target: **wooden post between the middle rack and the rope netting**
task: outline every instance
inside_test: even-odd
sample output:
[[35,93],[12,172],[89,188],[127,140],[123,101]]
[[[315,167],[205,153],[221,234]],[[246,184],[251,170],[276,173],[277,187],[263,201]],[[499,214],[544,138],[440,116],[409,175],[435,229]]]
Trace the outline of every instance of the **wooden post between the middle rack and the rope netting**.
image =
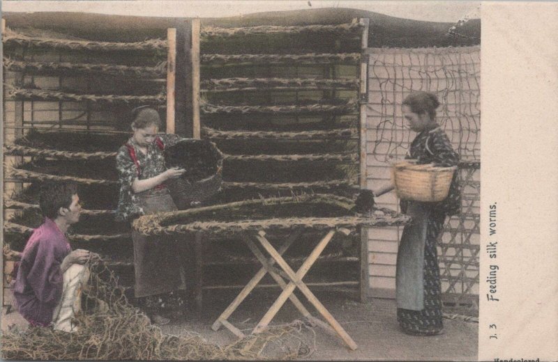
[[[368,173],[366,172],[366,110],[368,107],[368,56],[365,56],[365,49],[368,48],[368,29],[370,19],[360,19],[363,24],[361,38],[361,89],[359,93],[360,102],[360,120],[361,120],[361,189],[366,189],[368,182]],[[365,302],[368,299],[368,290],[370,289],[370,271],[368,268],[368,228],[361,228],[361,283],[359,299]]]

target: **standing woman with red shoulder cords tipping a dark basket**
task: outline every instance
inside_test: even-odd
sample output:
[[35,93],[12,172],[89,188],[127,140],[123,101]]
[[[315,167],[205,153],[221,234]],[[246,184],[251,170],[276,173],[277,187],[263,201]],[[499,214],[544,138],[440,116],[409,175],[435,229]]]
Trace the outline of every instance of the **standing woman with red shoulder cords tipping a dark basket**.
[[[116,154],[120,194],[116,220],[133,219],[154,212],[176,210],[167,180],[179,178],[183,169],[165,167],[163,149],[179,141],[175,134],[158,134],[159,114],[149,107],[133,110],[132,130],[125,145]],[[174,239],[147,239],[132,231],[134,244],[135,297],[142,298],[144,306],[165,300],[165,294],[184,289],[179,262],[179,245]],[[151,321],[167,324],[168,318],[158,314],[156,308],[147,311]]]

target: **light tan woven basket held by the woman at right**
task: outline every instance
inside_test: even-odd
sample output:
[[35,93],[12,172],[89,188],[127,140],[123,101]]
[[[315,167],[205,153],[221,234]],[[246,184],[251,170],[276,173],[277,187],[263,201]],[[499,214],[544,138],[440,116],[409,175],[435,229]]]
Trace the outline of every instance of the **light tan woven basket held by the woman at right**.
[[391,177],[395,192],[402,200],[436,203],[448,196],[455,169],[457,166],[437,167],[403,161],[393,165]]

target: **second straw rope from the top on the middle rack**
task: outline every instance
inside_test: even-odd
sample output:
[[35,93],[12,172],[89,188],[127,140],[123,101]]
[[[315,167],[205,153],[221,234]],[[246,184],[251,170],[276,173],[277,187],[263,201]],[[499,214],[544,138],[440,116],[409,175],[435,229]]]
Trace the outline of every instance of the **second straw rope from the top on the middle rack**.
[[340,54],[202,54],[202,65],[245,65],[245,64],[357,64],[359,53]]

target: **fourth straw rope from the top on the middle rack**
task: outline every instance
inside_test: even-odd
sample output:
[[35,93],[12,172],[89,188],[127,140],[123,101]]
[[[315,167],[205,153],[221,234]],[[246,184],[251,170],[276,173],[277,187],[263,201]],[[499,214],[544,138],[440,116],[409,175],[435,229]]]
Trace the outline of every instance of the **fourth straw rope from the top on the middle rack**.
[[199,107],[205,114],[246,114],[246,113],[350,113],[357,110],[356,102],[349,101],[346,104],[309,104],[306,106],[220,106],[200,102]]

